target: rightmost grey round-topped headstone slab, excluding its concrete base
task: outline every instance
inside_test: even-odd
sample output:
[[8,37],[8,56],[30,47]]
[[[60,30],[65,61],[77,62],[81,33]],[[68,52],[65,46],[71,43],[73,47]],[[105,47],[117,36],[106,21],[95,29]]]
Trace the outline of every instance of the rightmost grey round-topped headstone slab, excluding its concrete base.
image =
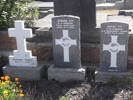
[[101,25],[100,67],[102,71],[126,71],[128,29],[129,25],[121,22],[107,22]]

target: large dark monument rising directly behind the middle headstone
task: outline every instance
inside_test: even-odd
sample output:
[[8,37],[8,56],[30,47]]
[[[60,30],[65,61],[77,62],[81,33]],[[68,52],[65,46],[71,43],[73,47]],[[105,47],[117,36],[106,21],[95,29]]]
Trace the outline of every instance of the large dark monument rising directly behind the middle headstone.
[[80,17],[81,41],[98,41],[96,39],[98,32],[95,29],[95,0],[54,0],[54,15],[73,15]]

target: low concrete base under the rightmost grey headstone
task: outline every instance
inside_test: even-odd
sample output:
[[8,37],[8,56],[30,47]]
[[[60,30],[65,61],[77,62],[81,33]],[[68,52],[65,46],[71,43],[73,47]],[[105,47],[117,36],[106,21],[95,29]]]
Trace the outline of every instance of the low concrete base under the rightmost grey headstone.
[[107,83],[109,80],[111,80],[112,77],[115,78],[123,78],[133,76],[133,72],[102,72],[102,71],[96,71],[95,73],[95,82],[103,82]]

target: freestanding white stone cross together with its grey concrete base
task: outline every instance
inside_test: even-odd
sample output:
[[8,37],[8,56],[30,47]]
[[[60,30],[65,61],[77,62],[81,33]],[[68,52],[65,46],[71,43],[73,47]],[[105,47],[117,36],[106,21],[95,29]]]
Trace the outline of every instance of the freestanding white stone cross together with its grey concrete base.
[[39,80],[44,75],[43,64],[27,50],[26,38],[32,37],[32,30],[24,28],[24,21],[15,21],[15,28],[9,28],[9,36],[16,37],[17,49],[9,56],[9,65],[3,67],[4,75],[21,80]]

